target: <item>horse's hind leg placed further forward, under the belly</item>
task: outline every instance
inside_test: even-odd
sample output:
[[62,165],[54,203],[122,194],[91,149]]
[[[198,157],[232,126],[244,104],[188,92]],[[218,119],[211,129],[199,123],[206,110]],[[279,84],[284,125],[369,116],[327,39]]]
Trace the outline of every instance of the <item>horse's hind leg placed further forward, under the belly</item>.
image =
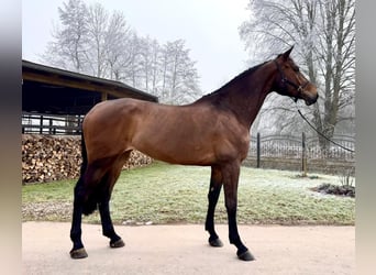
[[125,152],[123,155],[115,158],[110,170],[106,174],[103,184],[106,189],[103,190],[103,196],[99,201],[99,213],[102,223],[102,233],[107,238],[110,239],[110,248],[122,248],[124,246],[124,242],[122,239],[115,233],[111,216],[110,216],[110,198],[113,186],[117,179],[120,176],[121,169],[129,158],[131,152]]

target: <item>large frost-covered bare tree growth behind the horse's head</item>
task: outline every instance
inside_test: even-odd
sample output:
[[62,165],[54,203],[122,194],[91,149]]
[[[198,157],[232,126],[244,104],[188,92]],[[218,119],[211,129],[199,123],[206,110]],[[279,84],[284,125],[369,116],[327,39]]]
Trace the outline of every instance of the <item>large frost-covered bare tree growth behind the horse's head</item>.
[[[355,67],[354,0],[252,0],[253,16],[240,28],[246,47],[258,58],[270,58],[287,46],[296,45],[295,58],[312,82],[319,87],[320,100],[313,109],[305,109],[312,123],[332,138],[343,120],[353,120]],[[255,56],[253,56],[255,57]],[[280,129],[291,129],[296,114],[289,101],[275,99],[273,106],[283,121]],[[278,110],[279,109],[279,110]],[[283,114],[281,114],[283,112]],[[263,112],[262,112],[263,113]],[[265,112],[264,112],[265,113]],[[283,123],[284,122],[284,123]],[[278,125],[278,123],[276,123]],[[300,123],[302,124],[302,123]],[[322,146],[327,140],[320,139]]]

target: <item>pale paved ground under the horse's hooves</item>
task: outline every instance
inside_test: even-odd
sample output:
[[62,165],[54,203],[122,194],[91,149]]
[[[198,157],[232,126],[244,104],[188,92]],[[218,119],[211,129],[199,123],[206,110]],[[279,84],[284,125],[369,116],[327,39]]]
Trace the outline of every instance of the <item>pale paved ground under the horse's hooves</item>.
[[218,226],[224,246],[207,244],[203,226],[115,227],[125,248],[110,249],[100,226],[84,224],[89,257],[69,257],[69,223],[22,224],[23,274],[355,274],[354,227],[240,226],[256,261],[242,262]]

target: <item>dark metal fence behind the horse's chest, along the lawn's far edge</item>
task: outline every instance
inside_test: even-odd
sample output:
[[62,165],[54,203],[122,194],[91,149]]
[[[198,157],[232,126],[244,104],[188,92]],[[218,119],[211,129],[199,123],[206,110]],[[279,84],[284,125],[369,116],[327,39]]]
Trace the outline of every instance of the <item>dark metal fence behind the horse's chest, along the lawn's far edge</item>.
[[336,144],[325,150],[320,146],[316,136],[306,138],[290,135],[265,135],[258,133],[250,144],[245,165],[262,168],[278,168],[339,174],[343,170],[355,170],[355,139],[350,135],[335,135]]

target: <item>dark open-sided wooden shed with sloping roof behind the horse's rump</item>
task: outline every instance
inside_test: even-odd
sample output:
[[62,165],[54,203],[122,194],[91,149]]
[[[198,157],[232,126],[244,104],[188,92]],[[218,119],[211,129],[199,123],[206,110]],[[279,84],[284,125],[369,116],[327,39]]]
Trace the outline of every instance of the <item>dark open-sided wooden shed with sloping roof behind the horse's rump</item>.
[[78,133],[82,117],[98,102],[158,98],[120,81],[22,61],[22,132]]

